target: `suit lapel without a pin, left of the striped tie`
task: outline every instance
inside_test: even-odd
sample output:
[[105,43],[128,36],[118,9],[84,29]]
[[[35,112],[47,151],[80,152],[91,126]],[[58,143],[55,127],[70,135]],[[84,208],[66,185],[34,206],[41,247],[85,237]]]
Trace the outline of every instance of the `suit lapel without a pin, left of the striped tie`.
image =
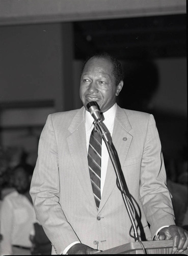
[[85,109],[83,107],[73,118],[68,129],[71,134],[67,137],[67,143],[78,180],[89,201],[97,210],[88,169],[84,113]]

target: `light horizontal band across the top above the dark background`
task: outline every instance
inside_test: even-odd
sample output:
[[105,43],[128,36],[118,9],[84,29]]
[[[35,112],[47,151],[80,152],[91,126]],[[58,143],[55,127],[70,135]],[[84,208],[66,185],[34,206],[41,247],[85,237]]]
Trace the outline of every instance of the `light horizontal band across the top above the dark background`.
[[185,14],[186,0],[1,0],[0,25]]

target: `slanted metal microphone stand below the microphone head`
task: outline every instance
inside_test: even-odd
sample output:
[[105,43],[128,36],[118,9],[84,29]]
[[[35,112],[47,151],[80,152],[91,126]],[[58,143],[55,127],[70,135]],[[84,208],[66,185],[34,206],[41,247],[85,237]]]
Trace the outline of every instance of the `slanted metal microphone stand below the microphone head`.
[[128,204],[128,201],[127,201],[127,198],[126,198],[125,189],[123,187],[123,182],[122,182],[122,179],[121,179],[121,176],[120,176],[118,164],[117,164],[116,157],[115,157],[115,154],[114,154],[114,151],[113,151],[113,148],[112,148],[112,137],[111,137],[110,133],[106,131],[106,129],[104,127],[104,124],[101,121],[101,119],[94,121],[94,125],[96,127],[96,130],[100,134],[101,138],[104,140],[105,145],[107,147],[107,150],[109,152],[109,156],[110,156],[112,164],[114,166],[114,170],[115,170],[115,173],[116,173],[116,176],[117,176],[117,181],[118,181],[119,188],[120,188],[120,191],[121,191],[121,194],[122,194],[122,197],[123,197],[123,201],[125,203],[125,206],[126,206],[126,209],[127,209],[127,212],[128,212],[128,216],[130,218],[130,221],[131,221],[131,224],[132,224],[132,227],[133,227],[133,231],[135,233],[135,241],[138,242],[138,241],[140,241],[139,240],[139,234],[138,234],[138,231],[137,231],[135,220],[133,219],[132,213],[130,211],[130,207],[129,207],[129,204]]

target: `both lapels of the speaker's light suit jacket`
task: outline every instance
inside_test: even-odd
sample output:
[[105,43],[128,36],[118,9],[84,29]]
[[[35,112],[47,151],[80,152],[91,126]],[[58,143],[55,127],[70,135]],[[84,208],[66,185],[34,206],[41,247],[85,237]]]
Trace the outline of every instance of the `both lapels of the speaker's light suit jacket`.
[[[88,170],[84,111],[84,107],[81,108],[73,118],[68,129],[70,135],[67,137],[67,143],[78,180],[83,190],[85,191],[85,195],[88,197],[91,206],[97,212]],[[117,105],[112,140],[118,153],[121,165],[123,165],[126,159],[131,144],[132,135],[128,133],[131,129],[132,128],[125,111]],[[106,178],[98,212],[105,205],[115,186],[116,174],[111,159],[109,158],[108,169],[106,172]]]

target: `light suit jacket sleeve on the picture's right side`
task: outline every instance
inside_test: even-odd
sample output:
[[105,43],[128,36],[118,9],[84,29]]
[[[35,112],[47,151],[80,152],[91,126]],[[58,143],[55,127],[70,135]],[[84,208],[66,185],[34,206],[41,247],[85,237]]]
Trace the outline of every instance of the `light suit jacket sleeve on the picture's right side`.
[[148,120],[140,175],[141,202],[153,237],[158,228],[175,222],[171,196],[166,185],[162,147],[152,115]]

